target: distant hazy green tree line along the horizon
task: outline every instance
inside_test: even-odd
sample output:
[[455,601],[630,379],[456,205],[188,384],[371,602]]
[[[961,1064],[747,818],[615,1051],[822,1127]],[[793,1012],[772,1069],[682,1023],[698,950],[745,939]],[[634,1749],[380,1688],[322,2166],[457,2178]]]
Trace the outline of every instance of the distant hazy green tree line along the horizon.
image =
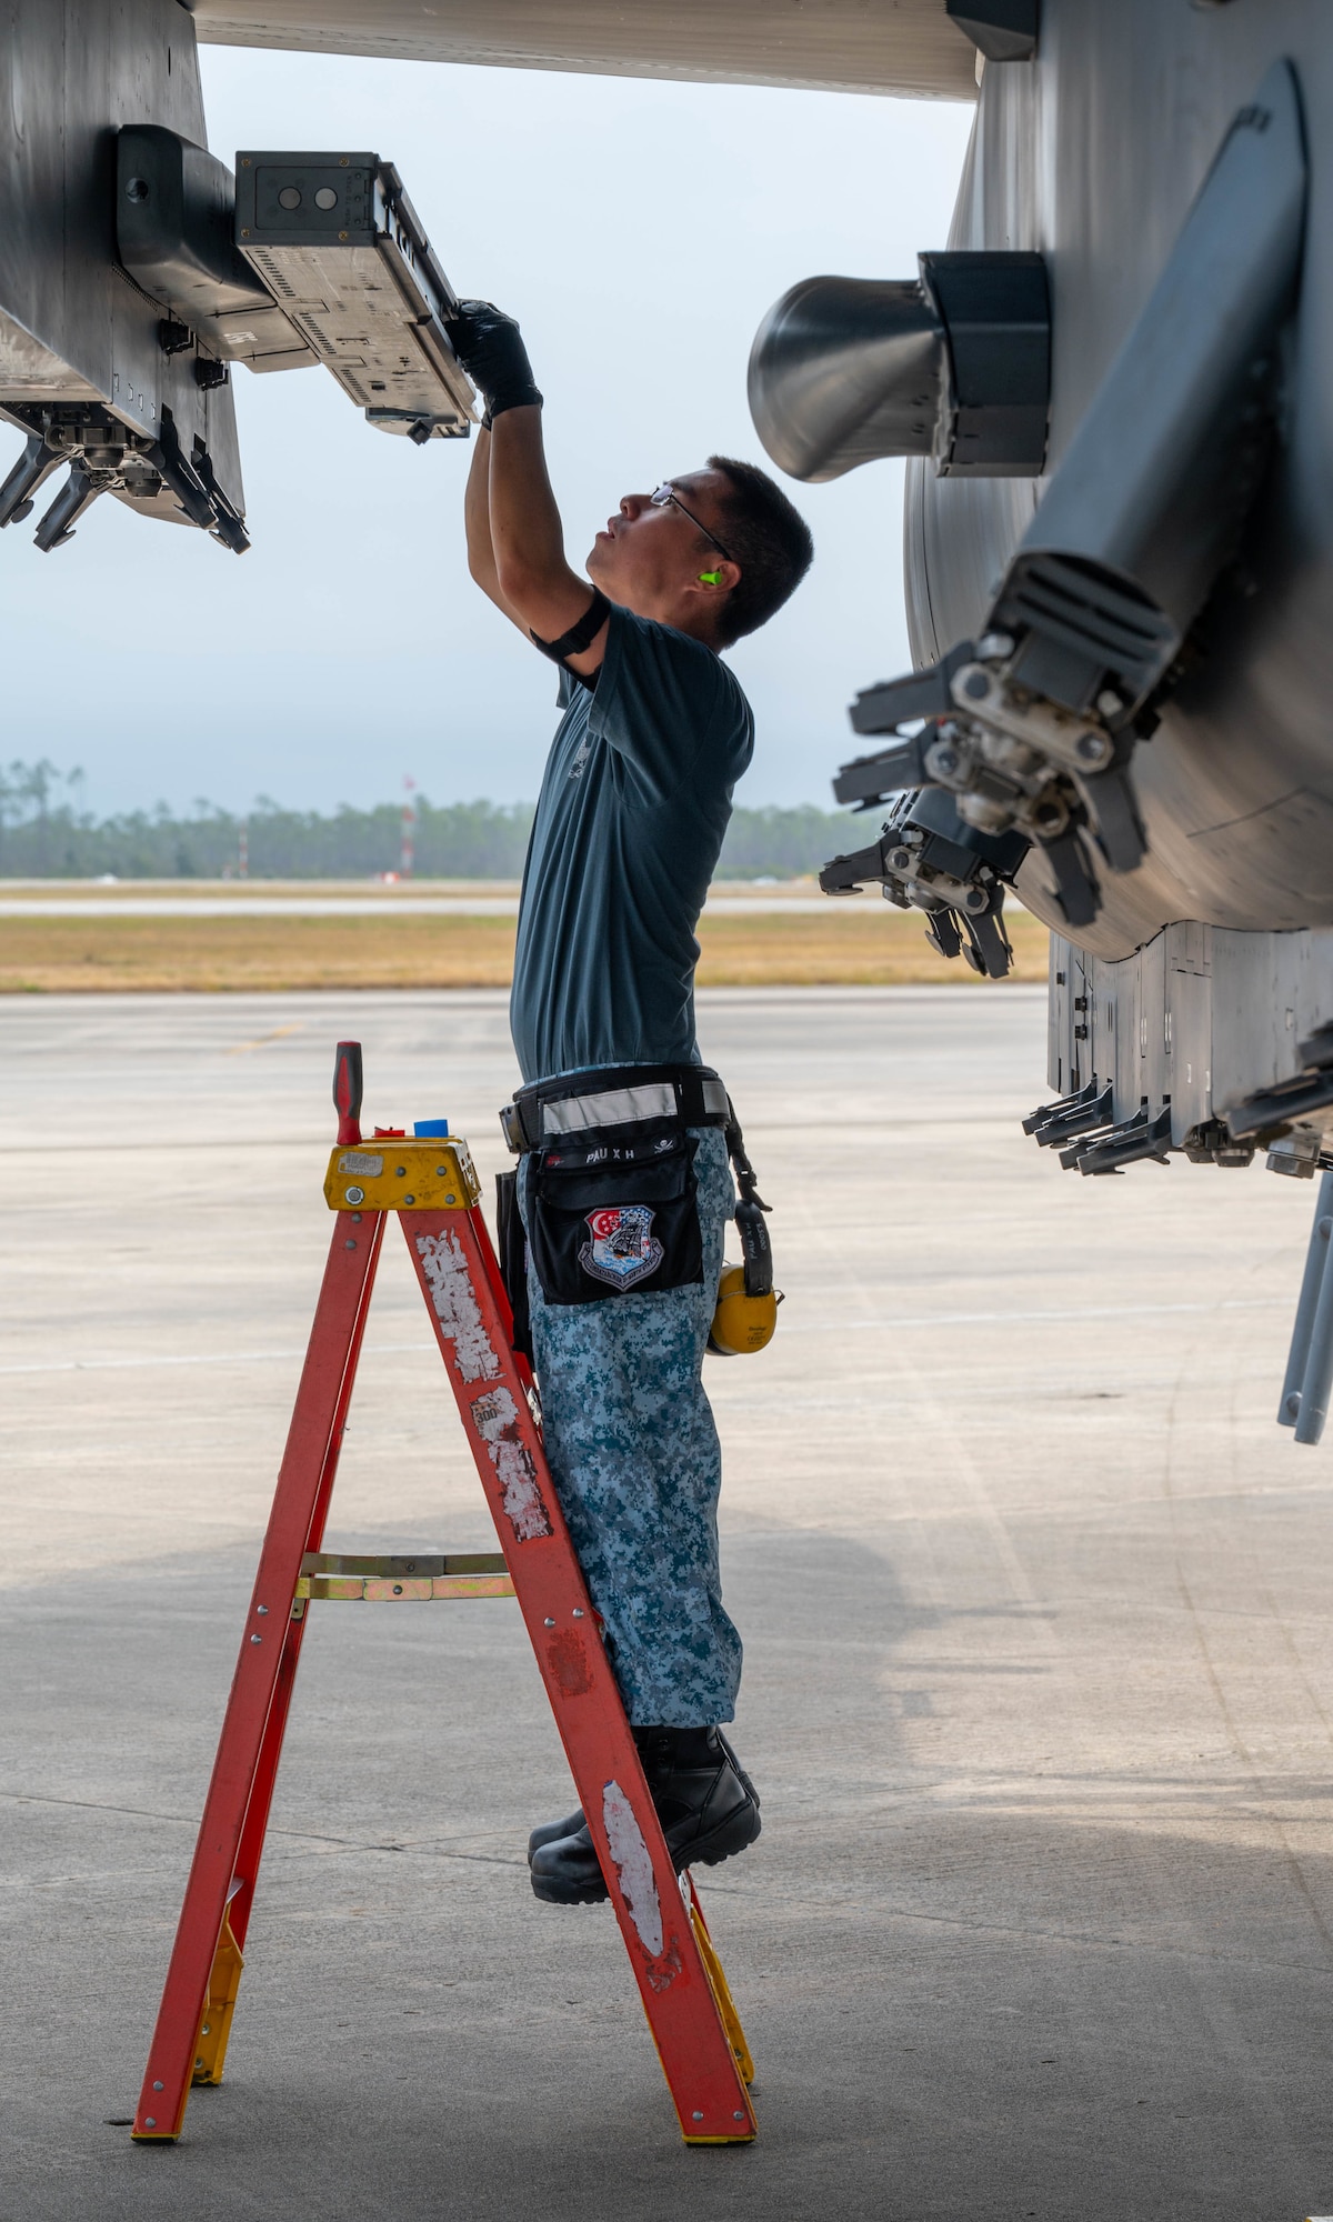
[[[402,869],[400,802],[355,811],[289,811],[260,795],[240,815],[213,802],[176,813],[98,818],[82,807],[82,771],[47,758],[0,769],[2,880],[367,880]],[[413,798],[411,849],[420,880],[518,880],[533,824],[531,802],[431,802]],[[720,878],[795,878],[858,844],[844,811],[733,811]]]

